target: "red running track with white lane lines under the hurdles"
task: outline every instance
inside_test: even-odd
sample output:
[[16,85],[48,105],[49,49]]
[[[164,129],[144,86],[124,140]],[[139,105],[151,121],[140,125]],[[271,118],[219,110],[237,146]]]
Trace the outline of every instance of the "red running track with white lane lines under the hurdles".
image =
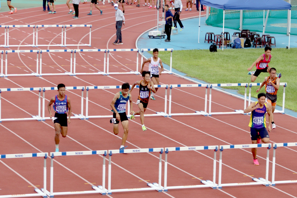
[[[126,5],[126,4],[125,4]],[[66,6],[57,6],[57,14],[48,15],[40,8],[20,10],[14,15],[0,15],[1,23],[6,25],[20,24],[92,24],[92,47],[67,47],[65,49],[106,49],[106,48],[135,48],[136,38],[147,29],[156,26],[155,10],[146,7],[135,8],[125,6],[126,26],[124,26],[124,45],[114,46],[115,40],[114,9],[109,4],[103,6],[103,15],[94,10],[92,16],[87,16],[89,4],[80,4],[78,20],[72,20],[67,15]],[[140,9],[140,10],[139,10]],[[197,12],[184,12],[182,18],[194,17]],[[142,17],[140,17],[142,16]],[[30,29],[15,28],[10,35],[15,43],[30,43]],[[21,31],[24,31],[23,33]],[[60,30],[48,28],[40,30],[40,42],[59,42]],[[69,42],[87,42],[88,30],[71,31],[69,28]],[[67,37],[68,37],[67,36]],[[0,37],[3,39],[3,37]],[[45,41],[48,40],[48,41]],[[67,41],[68,43],[68,41]],[[11,47],[5,50],[32,49],[31,47]],[[61,49],[60,47],[38,47],[37,49]],[[64,47],[63,47],[64,49]],[[103,54],[78,53],[77,69],[80,72],[102,71]],[[132,54],[132,53],[131,53]],[[129,71],[135,67],[135,54],[112,53],[110,56],[110,72]],[[12,73],[31,73],[36,69],[35,55],[19,53],[16,58],[10,59],[9,71]],[[44,72],[61,73],[69,68],[69,54],[55,53],[42,54]],[[28,58],[30,57],[30,58]],[[59,70],[57,70],[59,69]],[[25,71],[26,70],[26,71]],[[31,71],[30,71],[31,70]],[[94,86],[94,85],[121,85],[124,82],[134,83],[140,80],[138,75],[77,75],[71,77],[43,76],[43,77],[8,77],[1,78],[1,88],[18,87],[53,87],[58,83],[66,86]],[[189,84],[189,81],[175,75],[163,74],[161,84]],[[247,79],[248,82],[248,79]],[[111,115],[110,102],[113,95],[119,90],[90,90],[89,115]],[[37,92],[2,92],[1,113],[2,118],[21,118],[36,115]],[[56,94],[55,91],[46,92],[46,102]],[[169,90],[168,90],[169,94]],[[173,88],[172,113],[204,110],[205,88]],[[80,113],[80,90],[67,91],[71,98],[74,114]],[[137,110],[137,91],[132,92],[133,109]],[[85,97],[86,95],[84,95]],[[150,101],[146,114],[156,113],[164,109],[165,89],[159,89],[156,100]],[[243,102],[228,94],[212,90],[212,109],[217,111],[233,111],[242,109]],[[85,112],[85,110],[84,110]],[[46,116],[47,112],[46,112]],[[118,149],[123,130],[120,128],[119,136],[112,132],[110,118],[91,118],[89,120],[72,119],[68,135],[61,138],[60,151],[87,151]],[[270,133],[271,143],[296,142],[296,118],[288,115],[275,114],[274,120],[277,129]],[[128,148],[158,148],[181,147],[197,145],[228,145],[250,144],[249,116],[246,115],[187,115],[164,117],[146,117],[146,132],[141,130],[139,118],[129,121],[129,136],[126,142]],[[51,121],[5,121],[1,126],[1,154],[36,153],[54,151],[54,129]],[[4,141],[3,141],[4,140]],[[217,153],[217,160],[219,159]],[[112,189],[143,188],[148,182],[158,182],[158,154],[116,154],[112,157]],[[276,180],[296,180],[296,148],[278,148]],[[198,185],[200,180],[212,180],[213,151],[183,151],[168,154],[168,186]],[[223,152],[222,183],[251,182],[253,177],[265,177],[266,149],[258,149],[260,166],[252,163],[250,149],[234,149]],[[164,155],[163,155],[164,160]],[[270,151],[272,160],[272,150]],[[43,159],[1,159],[0,160],[0,195],[33,193],[34,188],[42,188]],[[106,162],[108,163],[108,162]],[[163,161],[162,170],[164,170]],[[91,190],[91,185],[101,185],[102,178],[101,156],[65,156],[55,157],[54,162],[54,191],[82,191]],[[47,160],[47,189],[49,190],[50,160]],[[271,180],[271,163],[269,164],[269,180]],[[107,169],[106,169],[107,170]],[[107,173],[107,172],[106,172]],[[107,174],[106,174],[107,175]],[[218,175],[218,163],[217,163]],[[162,175],[162,180],[163,180]],[[217,181],[216,181],[217,183]],[[162,181],[163,184],[163,181]],[[202,184],[201,184],[202,185]],[[32,187],[33,186],[33,187]],[[106,177],[107,188],[107,177]],[[113,193],[108,197],[250,197],[256,194],[260,197],[297,197],[296,184],[277,184],[275,187],[237,186],[224,187],[213,190],[176,189],[168,192],[145,191]],[[251,193],[252,192],[252,193]],[[95,197],[98,195],[75,195],[63,197]],[[58,196],[57,196],[58,197]]]

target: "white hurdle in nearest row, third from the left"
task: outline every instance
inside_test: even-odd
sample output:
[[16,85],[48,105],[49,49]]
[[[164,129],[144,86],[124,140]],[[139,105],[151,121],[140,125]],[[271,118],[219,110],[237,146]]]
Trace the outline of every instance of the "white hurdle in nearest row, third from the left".
[[[111,156],[118,153],[148,153],[148,152],[159,152],[159,174],[158,174],[158,183],[148,183],[147,185],[151,188],[128,188],[128,189],[111,189]],[[162,153],[163,148],[137,148],[137,149],[117,149],[117,150],[108,150],[108,194],[112,192],[132,192],[132,191],[148,191],[156,190],[161,192],[161,175],[162,175]]]

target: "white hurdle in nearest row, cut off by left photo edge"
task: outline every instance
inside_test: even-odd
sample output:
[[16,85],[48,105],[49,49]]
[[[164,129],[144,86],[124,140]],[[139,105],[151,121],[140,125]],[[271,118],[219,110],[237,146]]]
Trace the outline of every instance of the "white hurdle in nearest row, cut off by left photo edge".
[[[6,154],[0,155],[0,159],[16,159],[16,158],[29,158],[29,157],[44,157],[44,165],[43,165],[43,189],[46,190],[46,159],[48,157],[48,153],[22,153],[22,154]],[[35,170],[34,170],[35,171]],[[33,174],[36,174],[33,173]],[[1,178],[2,179],[2,178]],[[36,193],[34,194],[13,194],[13,195],[0,195],[0,198],[8,198],[8,197],[48,197],[45,192],[42,192],[43,189],[34,189]]]

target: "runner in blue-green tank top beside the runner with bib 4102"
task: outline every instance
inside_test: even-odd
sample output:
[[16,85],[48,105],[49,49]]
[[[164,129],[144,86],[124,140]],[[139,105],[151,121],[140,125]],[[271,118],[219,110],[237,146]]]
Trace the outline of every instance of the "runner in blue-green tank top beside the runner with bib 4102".
[[113,118],[110,120],[110,123],[113,123],[113,133],[115,135],[119,134],[119,123],[121,121],[123,129],[124,129],[124,134],[122,137],[122,144],[120,146],[120,149],[124,149],[126,147],[124,147],[125,142],[127,140],[128,137],[128,132],[129,132],[129,128],[128,128],[128,117],[126,115],[126,104],[129,101],[130,102],[130,112],[131,114],[133,114],[132,112],[132,98],[131,98],[131,94],[129,94],[129,89],[130,89],[130,85],[129,83],[124,83],[122,85],[122,91],[117,92],[114,97],[113,100],[111,101],[111,108],[112,108],[112,112],[113,112]]

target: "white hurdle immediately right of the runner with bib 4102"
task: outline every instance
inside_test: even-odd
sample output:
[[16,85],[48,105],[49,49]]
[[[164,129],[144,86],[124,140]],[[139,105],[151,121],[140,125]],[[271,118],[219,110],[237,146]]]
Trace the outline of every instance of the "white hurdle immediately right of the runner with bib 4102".
[[[171,113],[171,90],[172,88],[177,87],[205,87],[205,102],[204,102],[204,111],[195,111],[195,113]],[[169,85],[170,93],[169,93],[169,113],[168,116],[171,117],[172,115],[207,115],[206,107],[207,107],[207,88],[208,84],[182,84],[182,85]]]

